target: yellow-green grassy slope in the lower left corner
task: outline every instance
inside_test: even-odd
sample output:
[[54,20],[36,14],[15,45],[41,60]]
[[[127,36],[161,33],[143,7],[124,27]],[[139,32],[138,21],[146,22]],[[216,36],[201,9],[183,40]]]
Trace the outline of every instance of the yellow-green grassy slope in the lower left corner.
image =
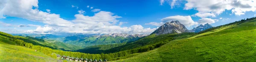
[[56,62],[46,54],[22,46],[13,41],[0,38],[0,62]]

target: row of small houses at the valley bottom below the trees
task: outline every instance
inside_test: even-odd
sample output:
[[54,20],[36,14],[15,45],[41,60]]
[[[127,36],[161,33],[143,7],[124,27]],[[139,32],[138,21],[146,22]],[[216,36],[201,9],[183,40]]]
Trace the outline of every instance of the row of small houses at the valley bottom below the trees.
[[97,61],[97,59],[83,59],[83,58],[74,58],[74,57],[69,57],[69,56],[61,56],[59,54],[56,55],[58,58],[61,58],[61,59],[68,59],[70,61],[75,61],[75,62],[108,62],[107,59],[105,59],[104,61],[102,61],[102,59],[99,59],[99,61]]

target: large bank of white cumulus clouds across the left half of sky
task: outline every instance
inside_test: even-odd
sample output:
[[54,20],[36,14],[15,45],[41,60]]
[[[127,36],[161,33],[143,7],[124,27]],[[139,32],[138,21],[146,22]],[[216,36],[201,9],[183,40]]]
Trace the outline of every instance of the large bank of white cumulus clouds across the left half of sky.
[[[38,10],[38,0],[17,0],[0,1],[3,9],[0,16],[11,16],[27,19],[34,22],[41,22],[46,25],[28,25],[37,27],[35,30],[26,30],[26,33],[36,34],[55,34],[55,33],[82,33],[82,34],[109,34],[109,33],[128,33],[128,34],[150,34],[156,28],[144,28],[141,25],[130,27],[120,27],[115,25],[121,16],[108,11],[99,11],[93,16],[86,16],[83,11],[74,15],[75,19],[66,20],[60,18],[60,14],[48,13]],[[76,7],[76,6],[72,6]],[[93,7],[91,7],[93,8]],[[120,22],[119,22],[120,24]],[[2,25],[2,24],[1,24]]]

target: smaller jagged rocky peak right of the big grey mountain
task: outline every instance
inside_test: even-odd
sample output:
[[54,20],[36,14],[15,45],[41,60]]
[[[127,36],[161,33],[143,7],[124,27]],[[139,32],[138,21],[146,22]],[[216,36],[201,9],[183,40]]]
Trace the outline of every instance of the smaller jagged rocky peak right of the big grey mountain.
[[212,28],[213,26],[211,25],[211,24],[204,24],[204,25],[202,25],[202,24],[200,24],[198,27],[194,27],[192,30],[189,30],[190,32],[201,32],[201,31],[203,31],[203,30],[207,30],[207,29],[209,29],[209,28]]

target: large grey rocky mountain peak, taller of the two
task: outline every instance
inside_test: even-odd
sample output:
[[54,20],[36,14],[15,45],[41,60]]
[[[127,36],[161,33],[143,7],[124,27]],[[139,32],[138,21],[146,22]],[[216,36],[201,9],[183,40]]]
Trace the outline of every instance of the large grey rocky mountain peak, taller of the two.
[[166,22],[162,26],[160,26],[157,30],[155,30],[152,34],[168,34],[168,33],[183,33],[189,32],[186,27],[181,24],[179,21]]

